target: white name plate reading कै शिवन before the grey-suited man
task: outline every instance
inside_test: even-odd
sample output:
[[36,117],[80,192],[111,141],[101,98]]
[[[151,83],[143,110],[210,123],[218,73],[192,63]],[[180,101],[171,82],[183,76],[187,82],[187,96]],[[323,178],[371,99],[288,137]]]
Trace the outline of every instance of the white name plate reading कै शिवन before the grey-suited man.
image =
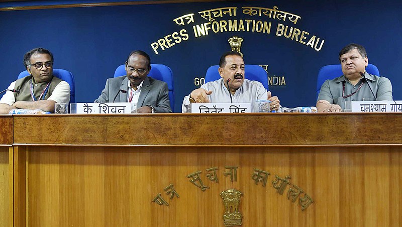
[[77,103],[77,113],[131,113],[131,109],[137,108],[137,103],[130,102],[100,102],[100,103]]

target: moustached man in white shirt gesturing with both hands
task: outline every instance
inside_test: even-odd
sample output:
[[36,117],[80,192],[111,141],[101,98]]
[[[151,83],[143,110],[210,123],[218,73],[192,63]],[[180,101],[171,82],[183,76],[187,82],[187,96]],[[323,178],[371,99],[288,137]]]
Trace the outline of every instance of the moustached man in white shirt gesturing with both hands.
[[223,54],[218,69],[222,78],[205,83],[185,96],[182,112],[189,112],[190,103],[194,102],[230,102],[230,95],[233,96],[233,103],[253,103],[258,99],[269,100],[271,109],[278,110],[280,106],[278,97],[271,96],[271,92],[267,92],[262,83],[244,78],[244,67],[244,61],[239,52],[230,51]]

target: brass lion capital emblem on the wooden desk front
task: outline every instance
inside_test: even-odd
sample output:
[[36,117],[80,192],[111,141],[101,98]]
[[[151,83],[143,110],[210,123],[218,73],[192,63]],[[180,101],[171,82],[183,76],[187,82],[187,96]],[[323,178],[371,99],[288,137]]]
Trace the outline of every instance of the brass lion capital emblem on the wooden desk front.
[[223,215],[225,226],[235,226],[242,224],[242,214],[239,211],[240,197],[243,195],[236,189],[228,189],[221,192],[225,213]]

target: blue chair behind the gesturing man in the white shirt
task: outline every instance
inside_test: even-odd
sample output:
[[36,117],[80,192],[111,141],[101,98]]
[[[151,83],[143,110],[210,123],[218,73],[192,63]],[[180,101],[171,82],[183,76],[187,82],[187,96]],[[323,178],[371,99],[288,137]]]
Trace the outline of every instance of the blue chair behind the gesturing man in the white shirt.
[[[213,65],[208,68],[205,75],[205,82],[215,81],[221,78],[218,72],[219,65]],[[265,89],[268,89],[268,75],[267,72],[259,65],[245,65],[245,78],[249,80],[256,80],[264,85]]]

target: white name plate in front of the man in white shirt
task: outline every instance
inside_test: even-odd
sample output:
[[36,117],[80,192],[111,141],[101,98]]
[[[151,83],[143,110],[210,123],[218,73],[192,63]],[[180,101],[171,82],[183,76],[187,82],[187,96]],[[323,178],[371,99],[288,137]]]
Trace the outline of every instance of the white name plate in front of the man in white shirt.
[[191,103],[192,113],[251,112],[251,103]]

